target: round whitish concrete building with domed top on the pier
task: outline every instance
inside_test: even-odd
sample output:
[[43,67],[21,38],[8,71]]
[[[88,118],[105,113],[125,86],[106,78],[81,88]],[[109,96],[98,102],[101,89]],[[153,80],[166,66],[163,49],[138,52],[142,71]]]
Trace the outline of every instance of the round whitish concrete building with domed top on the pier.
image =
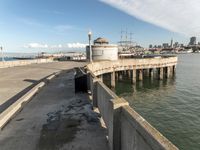
[[[109,44],[109,41],[105,38],[97,38],[94,40],[94,44],[91,45],[92,60],[117,60],[118,59],[118,46]],[[87,59],[90,59],[90,48],[86,47]]]

